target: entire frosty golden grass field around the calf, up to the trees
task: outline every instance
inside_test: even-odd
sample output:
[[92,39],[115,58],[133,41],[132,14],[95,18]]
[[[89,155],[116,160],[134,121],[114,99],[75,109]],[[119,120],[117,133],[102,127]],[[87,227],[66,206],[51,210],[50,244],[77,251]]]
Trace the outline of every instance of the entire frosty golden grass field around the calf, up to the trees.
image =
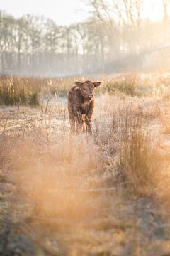
[[0,79],[0,255],[170,255],[170,75],[101,78],[91,136],[77,79]]

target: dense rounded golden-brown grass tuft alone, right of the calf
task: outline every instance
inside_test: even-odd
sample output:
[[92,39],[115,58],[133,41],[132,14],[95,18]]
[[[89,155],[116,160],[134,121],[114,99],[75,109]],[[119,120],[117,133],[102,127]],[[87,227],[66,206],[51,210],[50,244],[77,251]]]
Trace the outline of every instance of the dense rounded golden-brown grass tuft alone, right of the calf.
[[117,168],[123,171],[125,186],[130,192],[148,196],[157,185],[159,158],[152,149],[149,137],[140,129],[135,128],[128,141],[120,148]]

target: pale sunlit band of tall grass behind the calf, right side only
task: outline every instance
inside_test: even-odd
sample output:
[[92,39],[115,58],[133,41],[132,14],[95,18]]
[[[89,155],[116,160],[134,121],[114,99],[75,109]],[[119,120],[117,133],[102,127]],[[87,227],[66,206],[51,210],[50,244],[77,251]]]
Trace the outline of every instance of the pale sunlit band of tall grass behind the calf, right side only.
[[[163,96],[169,95],[170,77],[163,75],[147,75],[147,74],[118,74],[113,78],[103,78],[103,84],[98,92],[122,92],[130,96]],[[168,99],[167,99],[168,100]]]

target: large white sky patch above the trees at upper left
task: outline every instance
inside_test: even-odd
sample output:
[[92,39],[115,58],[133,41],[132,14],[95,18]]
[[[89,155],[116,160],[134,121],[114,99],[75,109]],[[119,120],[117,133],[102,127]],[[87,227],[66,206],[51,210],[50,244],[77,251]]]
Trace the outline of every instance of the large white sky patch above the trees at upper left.
[[84,21],[88,13],[81,0],[0,0],[0,9],[20,17],[23,14],[43,15],[58,25]]

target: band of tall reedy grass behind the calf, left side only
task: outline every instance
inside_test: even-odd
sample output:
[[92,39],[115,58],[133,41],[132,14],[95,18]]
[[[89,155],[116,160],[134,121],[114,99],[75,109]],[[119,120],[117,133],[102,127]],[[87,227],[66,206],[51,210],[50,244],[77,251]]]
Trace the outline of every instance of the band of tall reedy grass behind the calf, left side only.
[[66,97],[74,78],[0,77],[1,105],[40,105],[41,98]]

